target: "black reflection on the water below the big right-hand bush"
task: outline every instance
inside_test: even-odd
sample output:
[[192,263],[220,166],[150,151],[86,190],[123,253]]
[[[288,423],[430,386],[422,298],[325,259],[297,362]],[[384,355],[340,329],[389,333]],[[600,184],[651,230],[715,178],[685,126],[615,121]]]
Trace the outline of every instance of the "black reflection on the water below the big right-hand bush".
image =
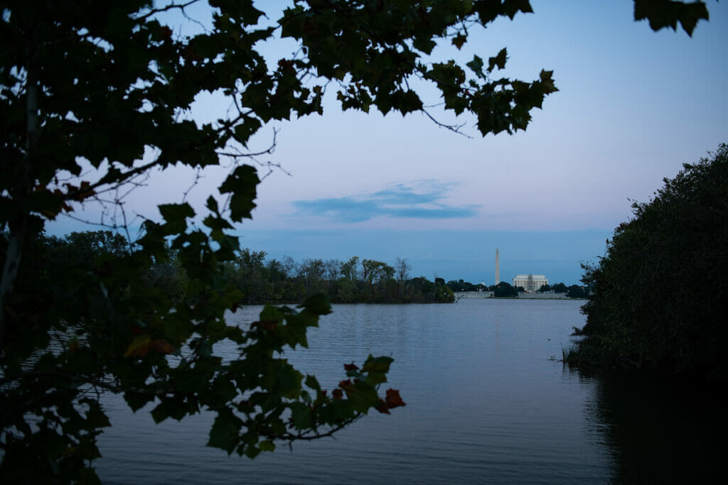
[[635,372],[589,377],[596,383],[589,412],[614,457],[612,481],[711,483],[725,476],[726,405],[710,385]]

